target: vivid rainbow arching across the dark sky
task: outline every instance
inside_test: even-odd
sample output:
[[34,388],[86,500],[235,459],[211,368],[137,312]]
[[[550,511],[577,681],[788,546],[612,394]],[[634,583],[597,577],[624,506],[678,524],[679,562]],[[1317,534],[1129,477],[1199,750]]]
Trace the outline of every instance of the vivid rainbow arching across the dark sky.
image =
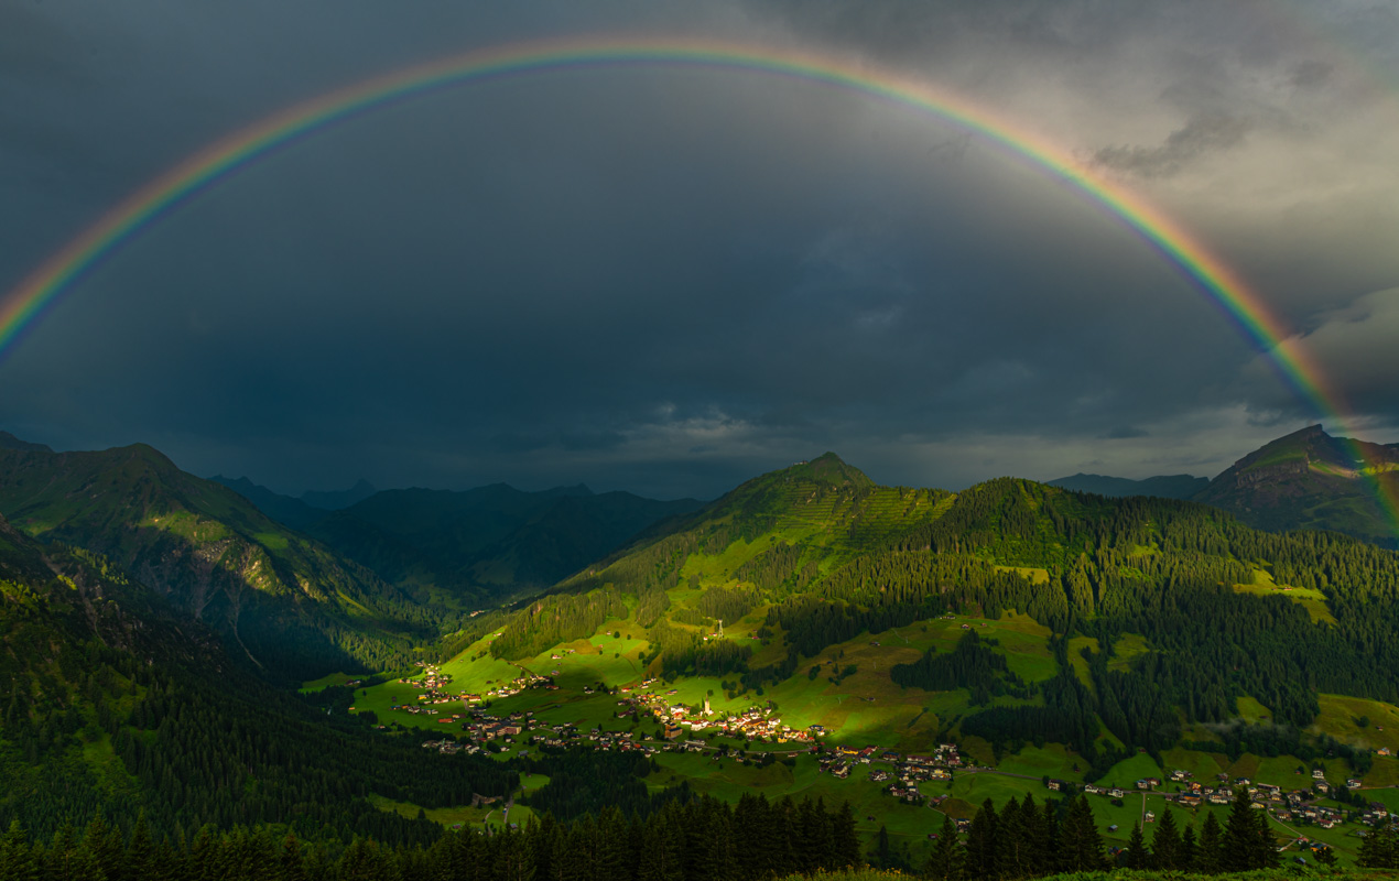
[[[1006,152],[1052,173],[1119,218],[1214,302],[1284,383],[1319,415],[1344,425],[1346,407],[1325,375],[1262,298],[1184,227],[1119,182],[1076,159],[1049,138],[953,92],[904,74],[830,53],[673,38],[572,38],[508,45],[397,70],[290,106],[236,131],[132,193],[25,277],[0,301],[0,358],[25,329],[84,275],[143,229],[259,158],[372,110],[442,89],[526,73],[588,67],[690,66],[781,76],[852,91],[956,123]],[[1361,447],[1356,447],[1363,460]],[[1378,468],[1374,468],[1378,470]],[[1399,536],[1399,503],[1382,489],[1381,506]]]

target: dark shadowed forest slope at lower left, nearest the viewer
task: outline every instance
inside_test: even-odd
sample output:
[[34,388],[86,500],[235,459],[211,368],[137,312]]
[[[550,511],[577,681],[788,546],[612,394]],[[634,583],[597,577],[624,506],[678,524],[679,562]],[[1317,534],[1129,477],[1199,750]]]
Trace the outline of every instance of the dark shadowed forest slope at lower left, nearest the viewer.
[[435,824],[369,796],[460,804],[518,783],[485,758],[425,752],[263,684],[105,558],[38,545],[4,520],[0,592],[0,825],[38,840],[101,812],[126,831],[144,817],[166,840],[281,824],[429,843]]

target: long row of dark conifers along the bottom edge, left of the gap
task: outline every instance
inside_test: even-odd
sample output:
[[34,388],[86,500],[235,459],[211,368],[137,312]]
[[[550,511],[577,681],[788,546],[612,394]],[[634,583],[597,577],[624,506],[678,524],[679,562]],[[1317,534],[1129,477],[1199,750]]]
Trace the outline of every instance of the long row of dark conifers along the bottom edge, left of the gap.
[[129,833],[94,818],[31,842],[18,825],[0,838],[0,877],[64,881],[758,881],[862,864],[849,805],[820,800],[737,805],[701,796],[645,817],[609,805],[572,824],[546,815],[495,835],[450,832],[431,845],[305,843],[269,826],[192,838]]

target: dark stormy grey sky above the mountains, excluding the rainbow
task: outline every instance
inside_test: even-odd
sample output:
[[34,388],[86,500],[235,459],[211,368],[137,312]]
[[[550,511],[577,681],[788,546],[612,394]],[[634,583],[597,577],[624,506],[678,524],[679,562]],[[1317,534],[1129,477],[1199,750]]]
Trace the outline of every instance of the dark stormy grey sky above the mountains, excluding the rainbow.
[[[609,34],[863,59],[1042,133],[1207,243],[1399,440],[1388,0],[0,0],[0,289],[291,103]],[[3,429],[288,492],[713,496],[827,449],[905,485],[1214,475],[1315,421],[1042,169],[852,92],[677,67],[469,84],[304,138],[0,361]]]

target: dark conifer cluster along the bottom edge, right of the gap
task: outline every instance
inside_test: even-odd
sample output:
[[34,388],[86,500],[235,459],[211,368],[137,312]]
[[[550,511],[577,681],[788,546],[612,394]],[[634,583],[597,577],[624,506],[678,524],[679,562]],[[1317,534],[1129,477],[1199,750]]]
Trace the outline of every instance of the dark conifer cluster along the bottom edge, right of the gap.
[[[1114,860],[1104,850],[1086,796],[1037,805],[1025,794],[1024,801],[1010,800],[1000,811],[988,798],[972,818],[965,842],[950,817],[943,821],[925,875],[933,881],[1004,881],[1115,866],[1200,874],[1276,868],[1277,845],[1265,814],[1249,807],[1242,790],[1235,792],[1223,825],[1207,812],[1199,832],[1195,826],[1181,829],[1165,810],[1150,845],[1140,825],[1133,825],[1128,846]],[[1333,861],[1333,854],[1323,850],[1319,860]]]

